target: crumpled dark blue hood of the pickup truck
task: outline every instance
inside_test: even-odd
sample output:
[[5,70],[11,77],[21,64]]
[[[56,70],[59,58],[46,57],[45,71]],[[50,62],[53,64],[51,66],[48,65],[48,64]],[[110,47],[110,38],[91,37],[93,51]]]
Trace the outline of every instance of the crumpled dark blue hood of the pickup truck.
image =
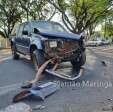
[[68,32],[39,32],[39,34],[45,38],[52,38],[52,39],[73,39],[79,40],[81,35],[68,33]]

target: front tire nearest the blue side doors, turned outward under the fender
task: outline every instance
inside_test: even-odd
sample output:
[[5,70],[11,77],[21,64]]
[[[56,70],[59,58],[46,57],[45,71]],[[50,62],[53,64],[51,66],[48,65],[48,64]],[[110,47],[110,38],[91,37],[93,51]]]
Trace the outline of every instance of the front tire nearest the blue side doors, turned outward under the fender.
[[35,70],[37,71],[38,68],[45,62],[43,51],[37,49],[34,50],[31,53],[31,60]]

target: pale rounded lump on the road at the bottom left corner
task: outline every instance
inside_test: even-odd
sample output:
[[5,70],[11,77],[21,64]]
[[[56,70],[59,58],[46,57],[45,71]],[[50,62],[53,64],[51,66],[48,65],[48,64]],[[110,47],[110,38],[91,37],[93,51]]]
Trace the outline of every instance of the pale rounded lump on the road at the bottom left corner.
[[32,112],[32,109],[26,103],[21,102],[21,103],[9,105],[5,109],[0,110],[0,112]]

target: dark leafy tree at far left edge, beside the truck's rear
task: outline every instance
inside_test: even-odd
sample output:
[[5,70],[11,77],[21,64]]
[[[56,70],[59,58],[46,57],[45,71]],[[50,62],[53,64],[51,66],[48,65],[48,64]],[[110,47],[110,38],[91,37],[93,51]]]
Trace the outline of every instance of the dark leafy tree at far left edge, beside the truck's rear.
[[15,23],[20,20],[22,11],[16,0],[2,0],[0,2],[0,35],[8,38]]

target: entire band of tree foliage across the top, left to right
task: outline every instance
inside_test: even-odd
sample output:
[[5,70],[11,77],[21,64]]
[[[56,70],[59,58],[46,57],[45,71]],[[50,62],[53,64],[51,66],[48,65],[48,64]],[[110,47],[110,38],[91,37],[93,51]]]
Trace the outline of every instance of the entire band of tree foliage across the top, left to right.
[[1,0],[0,35],[9,37],[14,25],[28,20],[51,20],[59,12],[73,33],[89,30],[112,16],[112,0]]

